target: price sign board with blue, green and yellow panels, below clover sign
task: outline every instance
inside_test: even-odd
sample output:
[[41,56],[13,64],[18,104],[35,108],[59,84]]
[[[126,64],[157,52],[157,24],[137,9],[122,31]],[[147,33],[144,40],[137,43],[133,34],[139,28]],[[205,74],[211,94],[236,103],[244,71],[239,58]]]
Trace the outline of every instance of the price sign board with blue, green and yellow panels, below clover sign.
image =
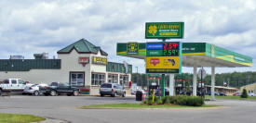
[[146,73],[182,73],[182,43],[146,43]]

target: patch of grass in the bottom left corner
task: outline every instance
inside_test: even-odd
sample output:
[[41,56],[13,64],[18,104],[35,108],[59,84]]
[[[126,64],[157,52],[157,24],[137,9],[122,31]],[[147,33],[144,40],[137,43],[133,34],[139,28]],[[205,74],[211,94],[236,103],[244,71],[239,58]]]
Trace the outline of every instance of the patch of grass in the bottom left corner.
[[46,118],[34,117],[32,115],[0,113],[0,123],[30,123],[43,120],[46,120]]

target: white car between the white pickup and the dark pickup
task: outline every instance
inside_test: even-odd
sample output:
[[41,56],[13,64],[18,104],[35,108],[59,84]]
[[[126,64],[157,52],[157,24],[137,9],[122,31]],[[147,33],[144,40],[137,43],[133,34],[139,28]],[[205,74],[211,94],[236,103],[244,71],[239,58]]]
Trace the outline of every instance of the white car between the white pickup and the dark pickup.
[[26,87],[24,89],[25,94],[34,94],[35,96],[40,94],[39,88],[46,88],[47,84],[34,84],[31,87]]

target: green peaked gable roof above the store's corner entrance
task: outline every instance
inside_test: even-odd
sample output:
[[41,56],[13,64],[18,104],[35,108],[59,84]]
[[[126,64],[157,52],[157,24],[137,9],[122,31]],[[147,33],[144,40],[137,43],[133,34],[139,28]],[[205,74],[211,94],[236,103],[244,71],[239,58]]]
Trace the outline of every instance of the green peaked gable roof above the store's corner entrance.
[[73,49],[75,49],[79,54],[97,54],[100,51],[101,55],[108,55],[106,52],[101,50],[100,46],[89,43],[85,39],[81,39],[68,45],[67,47],[58,51],[57,54],[69,54]]

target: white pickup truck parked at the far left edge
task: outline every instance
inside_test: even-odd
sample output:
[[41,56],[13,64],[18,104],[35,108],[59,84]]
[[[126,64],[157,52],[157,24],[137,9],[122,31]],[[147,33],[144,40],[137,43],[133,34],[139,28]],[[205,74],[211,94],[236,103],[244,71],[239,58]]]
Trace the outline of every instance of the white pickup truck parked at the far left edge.
[[26,84],[24,80],[21,79],[7,79],[3,80],[0,84],[1,92],[23,92],[25,87],[29,85]]

